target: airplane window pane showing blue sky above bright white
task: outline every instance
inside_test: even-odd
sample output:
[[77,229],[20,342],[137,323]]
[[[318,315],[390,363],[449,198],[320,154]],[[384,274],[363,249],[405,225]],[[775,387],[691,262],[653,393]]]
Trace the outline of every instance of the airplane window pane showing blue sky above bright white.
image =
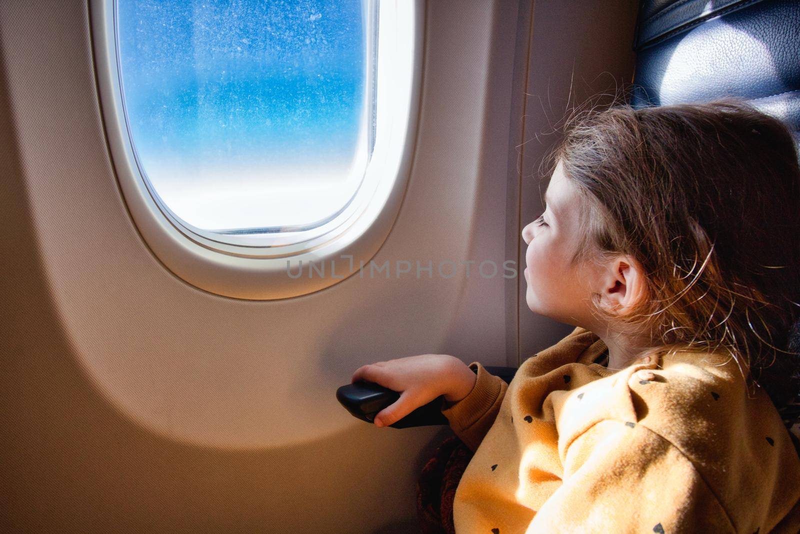
[[375,140],[377,0],[118,0],[114,16],[127,130],[162,211],[266,246],[352,215]]

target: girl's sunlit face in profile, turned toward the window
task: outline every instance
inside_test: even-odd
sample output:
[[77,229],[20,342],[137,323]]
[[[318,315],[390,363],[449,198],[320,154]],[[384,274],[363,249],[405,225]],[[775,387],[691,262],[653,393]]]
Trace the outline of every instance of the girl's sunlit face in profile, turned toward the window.
[[582,199],[559,161],[545,194],[546,210],[522,229],[528,245],[523,271],[531,311],[562,323],[591,324],[590,296],[601,273],[591,262],[570,264],[580,243]]

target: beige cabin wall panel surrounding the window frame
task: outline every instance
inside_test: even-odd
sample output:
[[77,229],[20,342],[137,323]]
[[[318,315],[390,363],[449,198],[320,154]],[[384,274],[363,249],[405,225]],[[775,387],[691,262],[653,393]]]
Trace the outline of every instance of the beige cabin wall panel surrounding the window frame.
[[[562,92],[578,54],[585,75],[632,69],[631,2],[561,3],[427,2],[416,151],[376,263],[524,257],[540,156],[520,175],[512,153],[542,120],[525,85]],[[447,429],[374,428],[336,388],[406,355],[516,365],[558,325],[520,313],[519,279],[474,271],[266,302],[178,279],[126,210],[89,20],[0,2],[0,529],[414,532]]]

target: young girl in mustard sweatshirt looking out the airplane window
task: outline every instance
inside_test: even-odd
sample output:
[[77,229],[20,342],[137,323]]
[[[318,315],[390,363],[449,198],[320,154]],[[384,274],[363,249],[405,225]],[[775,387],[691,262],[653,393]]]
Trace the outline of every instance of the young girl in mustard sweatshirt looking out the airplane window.
[[[419,355],[358,369],[438,395],[472,450],[458,534],[800,531],[800,459],[778,408],[800,303],[800,169],[743,102],[577,114],[546,210],[522,231],[531,311],[574,325],[506,385]],[[787,413],[787,412],[785,412]]]

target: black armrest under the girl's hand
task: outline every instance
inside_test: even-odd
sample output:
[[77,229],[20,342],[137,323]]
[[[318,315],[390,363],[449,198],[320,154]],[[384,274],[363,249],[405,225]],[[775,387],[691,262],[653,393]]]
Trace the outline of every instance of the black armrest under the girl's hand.
[[[492,375],[499,376],[506,383],[511,383],[517,367],[485,367]],[[383,387],[374,382],[358,380],[336,390],[336,399],[354,417],[367,423],[372,423],[374,417],[383,408],[386,408],[400,398],[397,391]],[[414,412],[389,426],[392,428],[426,427],[436,424],[449,424],[442,415],[442,395],[430,403],[420,406]]]

